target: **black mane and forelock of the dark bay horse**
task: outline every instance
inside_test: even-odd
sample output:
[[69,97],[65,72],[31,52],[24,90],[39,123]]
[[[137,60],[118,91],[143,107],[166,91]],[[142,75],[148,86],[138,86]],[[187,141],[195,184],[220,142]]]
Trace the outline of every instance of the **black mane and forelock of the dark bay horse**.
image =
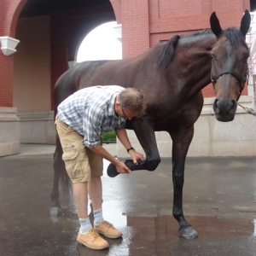
[[[179,38],[190,38],[190,37],[195,37],[204,33],[212,33],[212,30],[203,29],[187,35],[182,35],[182,36],[176,35],[170,40],[168,40],[168,42],[166,43],[166,45],[164,46],[164,48],[162,49],[158,57],[159,66],[164,67],[164,69],[166,69],[169,66],[170,62],[172,61]],[[238,49],[241,44],[243,44],[248,49],[245,38],[242,36],[240,30],[238,30],[236,27],[231,26],[225,29],[223,33],[224,33],[224,36],[229,39],[230,44],[235,49]]]

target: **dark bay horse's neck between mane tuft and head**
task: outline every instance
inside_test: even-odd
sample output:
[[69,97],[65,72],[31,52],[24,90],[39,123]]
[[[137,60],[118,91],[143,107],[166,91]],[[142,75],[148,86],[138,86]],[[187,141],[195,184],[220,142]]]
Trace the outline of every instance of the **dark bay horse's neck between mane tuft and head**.
[[[200,34],[194,37],[180,38],[174,59],[168,72],[172,81],[172,73],[179,79],[179,90],[189,98],[195,96],[211,82],[210,51],[216,43],[213,33]],[[174,69],[174,70],[173,70]]]

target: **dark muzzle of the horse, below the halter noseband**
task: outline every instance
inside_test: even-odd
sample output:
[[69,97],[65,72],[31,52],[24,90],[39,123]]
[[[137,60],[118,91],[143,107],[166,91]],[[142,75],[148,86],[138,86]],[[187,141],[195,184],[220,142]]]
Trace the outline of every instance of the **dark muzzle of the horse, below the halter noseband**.
[[216,98],[213,103],[213,111],[216,119],[221,122],[230,122],[235,118],[236,100]]

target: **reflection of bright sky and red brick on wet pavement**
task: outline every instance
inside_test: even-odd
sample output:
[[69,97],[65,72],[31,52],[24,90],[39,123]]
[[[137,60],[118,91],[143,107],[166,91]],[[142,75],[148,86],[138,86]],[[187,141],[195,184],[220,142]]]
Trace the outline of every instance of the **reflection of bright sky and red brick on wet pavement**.
[[[199,237],[192,241],[180,238],[177,232],[178,224],[172,213],[160,215],[160,209],[166,209],[170,202],[164,200],[166,203],[160,205],[160,209],[154,208],[160,201],[155,201],[158,198],[158,187],[153,186],[153,177],[147,180],[147,183],[139,179],[135,181],[135,177],[130,175],[109,178],[106,172],[108,164],[109,162],[104,160],[104,218],[109,219],[124,233],[123,241],[120,244],[113,244],[108,255],[207,255],[212,248],[216,252],[222,252],[222,255],[253,255],[250,253],[253,252],[252,248],[256,242],[256,219],[252,223],[242,218],[187,216],[189,223],[199,232]],[[148,183],[154,190],[148,188]],[[165,191],[165,195],[161,194],[158,199],[163,200],[167,193],[168,191]],[[140,197],[141,200],[138,200]],[[148,212],[148,208],[151,211]],[[122,211],[125,211],[125,214]],[[250,239],[252,234],[253,240]],[[241,244],[247,245],[247,252],[241,252]],[[116,253],[119,249],[121,254]]]

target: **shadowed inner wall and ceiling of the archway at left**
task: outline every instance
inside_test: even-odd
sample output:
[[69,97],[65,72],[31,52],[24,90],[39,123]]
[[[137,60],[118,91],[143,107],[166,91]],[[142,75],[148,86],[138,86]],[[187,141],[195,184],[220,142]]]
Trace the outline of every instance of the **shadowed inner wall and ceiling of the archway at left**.
[[115,15],[108,0],[45,0],[44,4],[26,1],[15,27],[15,38],[19,38],[20,44],[12,56],[12,100],[20,122],[10,137],[13,150],[0,150],[1,155],[19,153],[20,143],[55,143],[55,81],[67,70],[68,61],[75,59],[84,33],[113,20]]

